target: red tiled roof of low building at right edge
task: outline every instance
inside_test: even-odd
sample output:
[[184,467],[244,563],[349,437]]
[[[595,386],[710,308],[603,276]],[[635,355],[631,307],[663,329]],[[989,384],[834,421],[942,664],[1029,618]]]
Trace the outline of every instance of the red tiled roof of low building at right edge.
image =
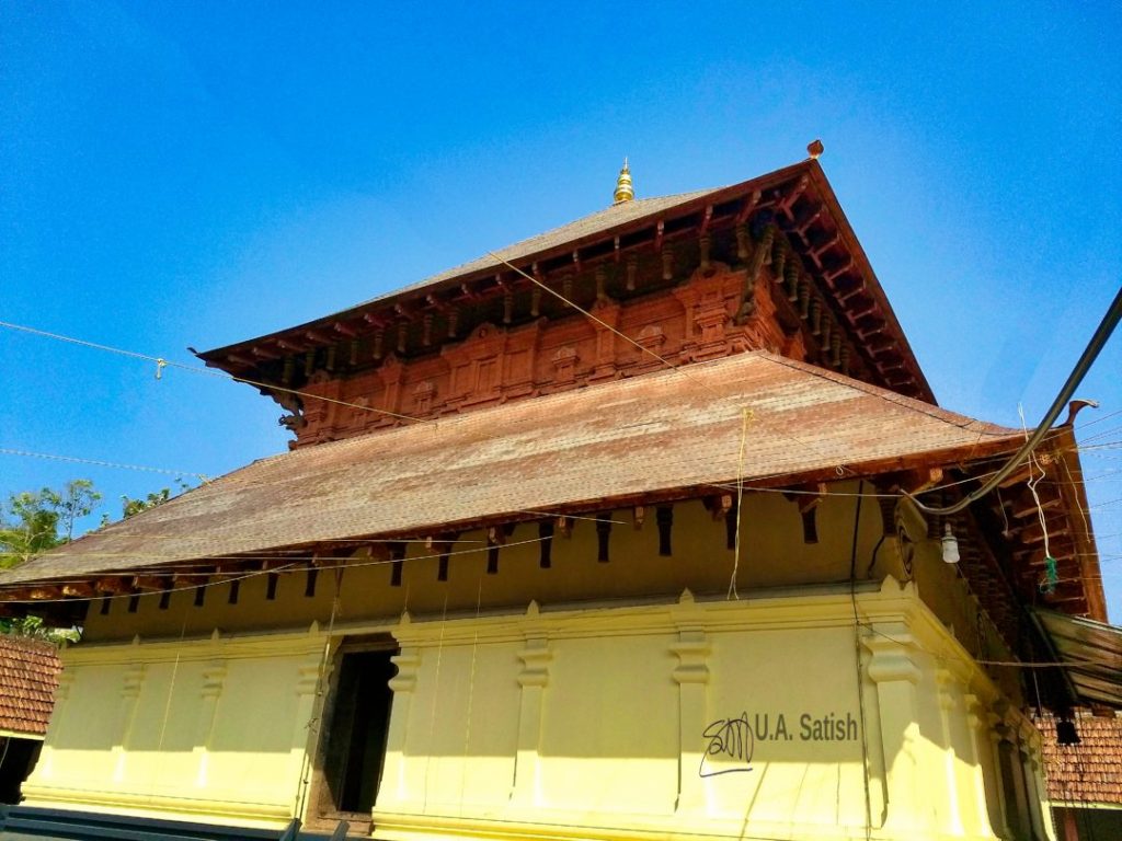
[[1043,737],[1045,776],[1054,805],[1122,805],[1122,718],[1079,712],[1075,727],[1079,743],[1056,743],[1051,717],[1039,720]]

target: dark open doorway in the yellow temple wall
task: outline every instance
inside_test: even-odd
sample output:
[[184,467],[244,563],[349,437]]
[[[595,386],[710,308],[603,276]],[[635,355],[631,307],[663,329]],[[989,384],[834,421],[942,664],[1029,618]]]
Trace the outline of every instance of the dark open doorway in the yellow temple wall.
[[386,756],[396,649],[347,651],[339,663],[323,773],[338,812],[369,815]]

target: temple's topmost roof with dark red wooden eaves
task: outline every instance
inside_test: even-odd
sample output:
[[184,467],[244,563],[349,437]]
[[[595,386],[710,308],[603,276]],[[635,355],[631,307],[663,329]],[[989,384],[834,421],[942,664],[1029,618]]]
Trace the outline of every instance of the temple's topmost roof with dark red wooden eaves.
[[[205,351],[199,357],[208,366],[267,391],[269,385],[279,385],[282,380],[287,385],[285,359],[303,359],[307,353],[325,353],[333,345],[371,341],[373,334],[395,327],[414,336],[411,346],[417,348],[417,352],[436,352],[441,343],[456,340],[436,330],[432,336],[426,331],[422,342],[421,323],[426,316],[440,320],[449,308],[460,306],[479,309],[479,302],[500,298],[506,290],[528,284],[506,262],[551,286],[560,286],[559,278],[598,264],[619,261],[628,253],[649,253],[652,248],[657,250],[673,242],[696,242],[706,231],[733,225],[754,225],[758,231],[765,221],[778,224],[790,241],[825,306],[845,325],[863,354],[871,381],[935,403],[888,297],[815,159],[730,186],[615,204],[497,249],[495,255],[500,259],[480,257],[348,309]],[[573,314],[558,316],[573,317]],[[530,316],[523,314],[523,317]],[[462,321],[460,326],[470,329]],[[368,349],[361,355],[364,361],[359,364],[370,364]],[[334,364],[332,377],[347,376],[341,362]],[[302,368],[295,366],[296,387],[303,376]]]

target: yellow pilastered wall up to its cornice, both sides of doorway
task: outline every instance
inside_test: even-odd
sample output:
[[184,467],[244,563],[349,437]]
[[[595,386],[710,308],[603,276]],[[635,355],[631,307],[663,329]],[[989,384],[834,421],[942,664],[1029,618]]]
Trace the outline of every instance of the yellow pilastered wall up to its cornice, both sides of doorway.
[[[1034,731],[914,586],[856,608],[838,585],[351,627],[401,646],[376,835],[858,838],[866,765],[875,838],[1046,833]],[[279,826],[325,636],[67,650],[28,803]],[[809,738],[830,715],[843,738]],[[721,721],[751,751],[710,756]]]

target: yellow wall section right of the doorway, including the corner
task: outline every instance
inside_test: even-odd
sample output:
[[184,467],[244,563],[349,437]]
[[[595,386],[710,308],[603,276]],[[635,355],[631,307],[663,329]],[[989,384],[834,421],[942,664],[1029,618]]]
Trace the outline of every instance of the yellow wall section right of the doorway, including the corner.
[[[1023,719],[913,586],[863,588],[859,630],[853,608],[838,588],[408,622],[394,634],[413,688],[395,697],[376,835],[857,838],[867,764],[873,837],[1013,837],[991,825],[1001,783],[986,757],[999,731],[1038,756]],[[498,685],[479,680],[493,651]],[[434,742],[434,699],[456,686],[462,703],[465,683],[488,699],[487,733],[453,717]],[[845,738],[811,738],[827,717]],[[730,738],[719,722],[737,719],[751,760],[710,757]],[[1018,773],[1029,821],[1039,773]],[[491,800],[463,796],[473,776]]]

